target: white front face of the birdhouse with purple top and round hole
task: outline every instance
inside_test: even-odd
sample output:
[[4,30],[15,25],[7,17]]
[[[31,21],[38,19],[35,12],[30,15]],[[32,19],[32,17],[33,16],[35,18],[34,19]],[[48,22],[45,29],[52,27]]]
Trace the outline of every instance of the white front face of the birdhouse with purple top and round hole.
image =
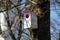
[[31,13],[27,12],[24,13],[24,28],[30,28],[31,27]]

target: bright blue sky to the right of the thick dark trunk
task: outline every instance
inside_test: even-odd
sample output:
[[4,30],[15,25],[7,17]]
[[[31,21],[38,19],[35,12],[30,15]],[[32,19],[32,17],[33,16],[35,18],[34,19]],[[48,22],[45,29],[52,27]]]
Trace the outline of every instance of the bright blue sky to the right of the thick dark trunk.
[[[50,2],[53,2],[53,0],[51,0]],[[57,4],[55,4],[56,6],[56,9],[60,9],[59,6],[57,6]],[[50,5],[50,21],[53,22],[55,25],[54,27],[57,29],[55,30],[55,32],[53,31],[54,29],[52,28],[52,26],[50,27],[50,32],[53,33],[54,36],[56,36],[57,34],[56,33],[59,33],[58,30],[60,30],[60,17],[58,16],[57,13],[60,12],[60,10],[53,10],[55,9],[54,5]],[[57,24],[59,23],[59,24]],[[51,37],[51,40],[56,40],[55,37]]]

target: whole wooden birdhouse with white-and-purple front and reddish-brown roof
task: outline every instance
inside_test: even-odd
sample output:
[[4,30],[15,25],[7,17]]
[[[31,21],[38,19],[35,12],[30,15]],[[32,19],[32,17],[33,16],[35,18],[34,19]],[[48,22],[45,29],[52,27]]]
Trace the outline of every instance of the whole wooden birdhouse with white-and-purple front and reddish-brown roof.
[[37,29],[37,16],[31,12],[30,10],[26,9],[23,11],[24,13],[24,29]]

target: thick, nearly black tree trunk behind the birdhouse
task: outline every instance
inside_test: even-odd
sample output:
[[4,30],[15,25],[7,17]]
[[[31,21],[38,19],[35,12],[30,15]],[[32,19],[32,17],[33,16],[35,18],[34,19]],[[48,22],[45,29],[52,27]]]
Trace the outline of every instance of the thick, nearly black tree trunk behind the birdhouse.
[[[40,1],[41,2],[41,1]],[[40,9],[43,10],[41,16],[38,16],[38,29],[33,30],[34,37],[38,40],[50,40],[50,5],[49,1],[43,1],[39,4]]]

